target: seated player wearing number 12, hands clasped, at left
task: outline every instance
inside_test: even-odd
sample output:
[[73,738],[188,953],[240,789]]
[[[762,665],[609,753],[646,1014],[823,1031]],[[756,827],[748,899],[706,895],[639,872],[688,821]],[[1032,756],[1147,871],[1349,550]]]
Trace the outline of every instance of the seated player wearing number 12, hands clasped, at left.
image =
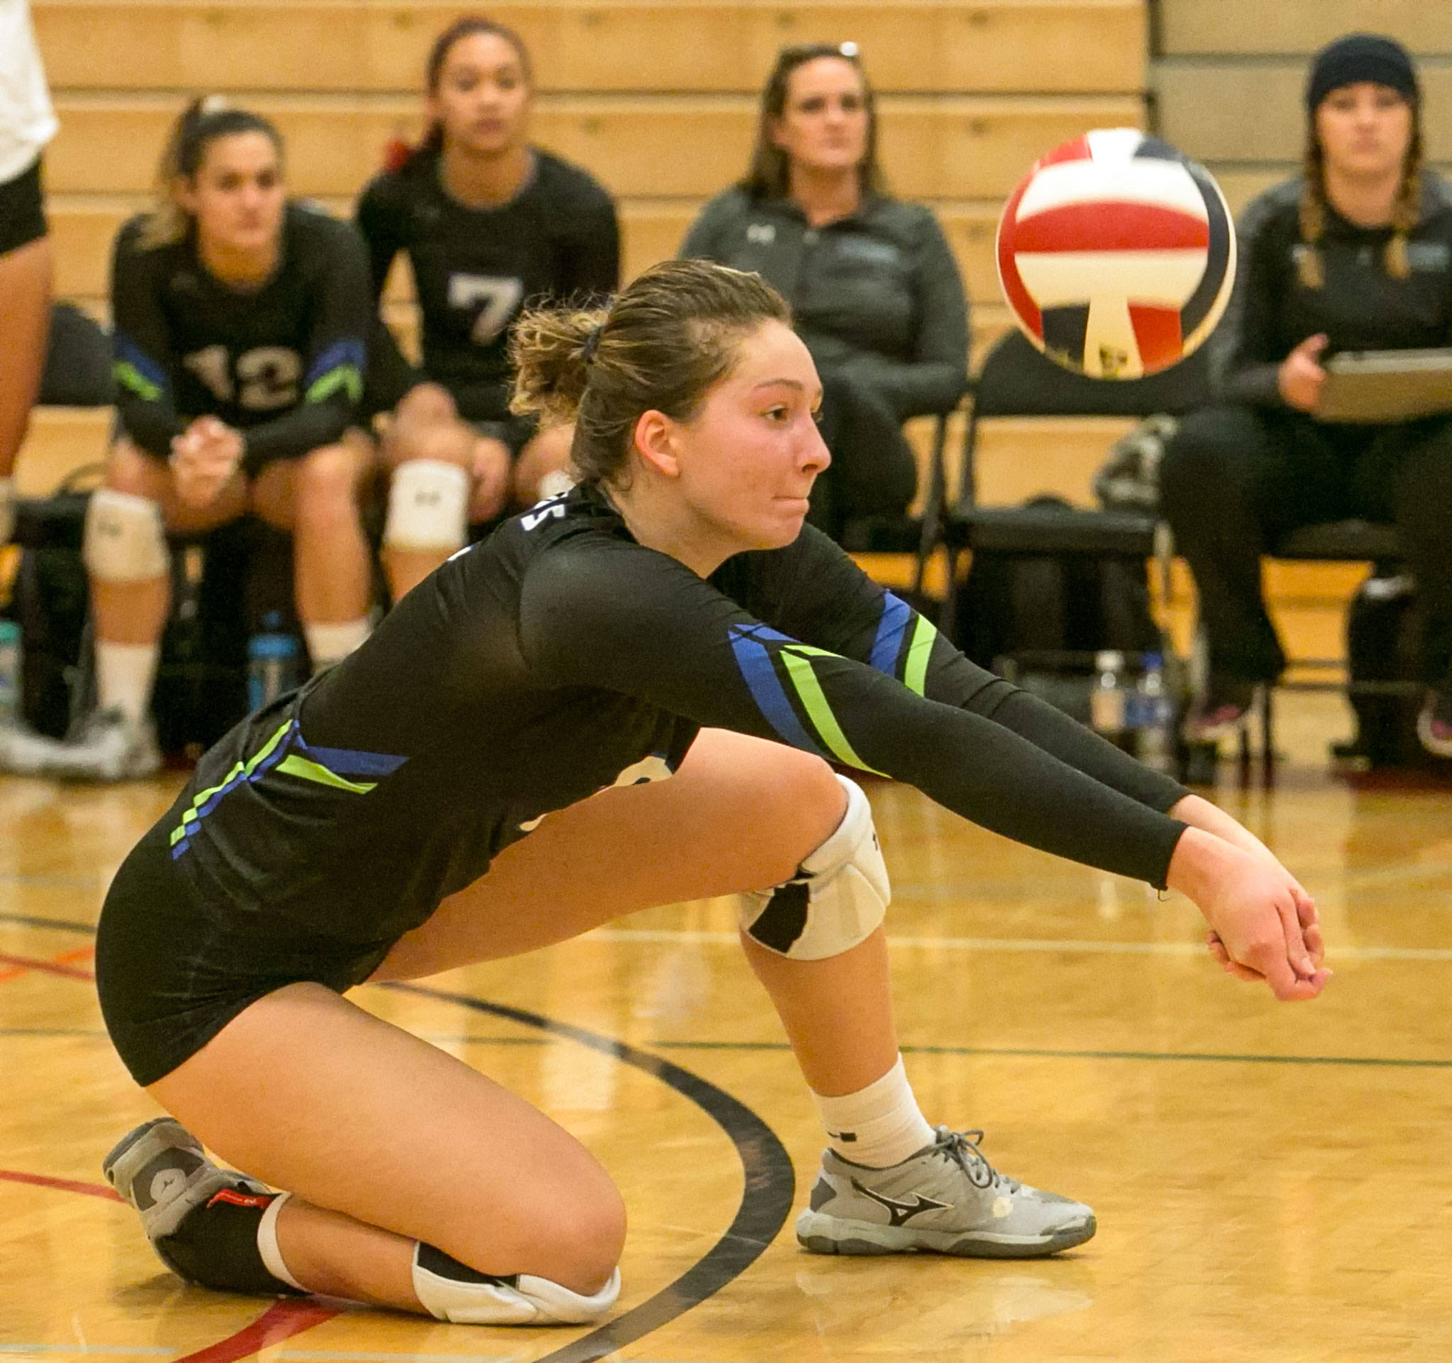
[[363,244],[287,200],[277,131],[240,109],[192,105],[160,184],[163,202],[121,229],[112,261],[119,431],[84,533],[97,708],[64,745],[13,737],[12,768],[93,779],[157,768],[167,531],[247,512],[292,531],[314,669],[369,631],[357,492],[372,451],[344,440],[370,315]]

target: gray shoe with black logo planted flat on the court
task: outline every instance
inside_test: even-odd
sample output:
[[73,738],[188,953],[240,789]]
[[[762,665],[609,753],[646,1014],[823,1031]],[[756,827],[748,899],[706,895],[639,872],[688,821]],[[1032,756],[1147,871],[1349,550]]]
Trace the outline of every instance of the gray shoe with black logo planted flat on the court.
[[982,1131],[937,1126],[937,1141],[889,1168],[852,1164],[828,1150],[797,1218],[813,1254],[964,1254],[1035,1258],[1095,1232],[1082,1202],[1008,1179],[983,1158]]

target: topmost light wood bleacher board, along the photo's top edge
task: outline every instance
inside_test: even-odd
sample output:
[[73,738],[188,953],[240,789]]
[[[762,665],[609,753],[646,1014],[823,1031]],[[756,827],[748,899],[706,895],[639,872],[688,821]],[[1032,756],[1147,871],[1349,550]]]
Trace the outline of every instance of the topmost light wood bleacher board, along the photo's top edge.
[[[57,89],[411,91],[460,7],[36,0]],[[1134,91],[1140,0],[491,4],[544,90],[759,89],[788,42],[855,41],[883,90]]]

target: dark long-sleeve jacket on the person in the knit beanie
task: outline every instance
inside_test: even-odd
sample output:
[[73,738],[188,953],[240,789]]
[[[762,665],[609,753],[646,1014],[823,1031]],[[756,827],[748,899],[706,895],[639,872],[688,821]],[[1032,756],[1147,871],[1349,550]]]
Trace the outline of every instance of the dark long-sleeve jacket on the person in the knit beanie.
[[1327,212],[1320,241],[1324,285],[1307,289],[1297,258],[1302,180],[1268,189],[1241,213],[1236,290],[1215,335],[1223,396],[1282,405],[1281,361],[1324,332],[1339,350],[1417,350],[1452,344],[1452,189],[1423,176],[1422,212],[1407,240],[1411,274],[1387,273],[1391,228],[1359,228]]

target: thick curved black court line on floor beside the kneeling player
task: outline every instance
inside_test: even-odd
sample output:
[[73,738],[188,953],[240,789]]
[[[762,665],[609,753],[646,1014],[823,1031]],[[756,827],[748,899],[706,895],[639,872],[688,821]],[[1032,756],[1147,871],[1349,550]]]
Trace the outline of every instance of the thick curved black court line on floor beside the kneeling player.
[[668,1325],[693,1306],[698,1306],[706,1298],[720,1292],[729,1282],[745,1273],[767,1245],[777,1238],[777,1232],[791,1212],[791,1200],[796,1195],[791,1157],[777,1139],[775,1132],[745,1103],[723,1089],[717,1089],[668,1060],[661,1060],[659,1055],[637,1051],[623,1041],[611,1041],[608,1036],[587,1032],[574,1023],[558,1022],[540,1013],[508,1007],[502,1003],[488,1003],[469,994],[427,989],[420,984],[383,984],[380,989],[456,1003],[460,1007],[489,1013],[494,1018],[508,1018],[511,1022],[539,1028],[542,1032],[565,1036],[579,1045],[611,1055],[690,1099],[726,1132],[736,1147],[736,1157],[741,1160],[745,1174],[745,1187],[736,1216],[722,1238],[696,1264],[674,1283],[656,1292],[655,1296],[572,1344],[536,1359],[534,1363],[591,1363],[591,1360],[603,1359],[617,1348],[624,1348],[626,1344],[633,1344],[662,1325]]

